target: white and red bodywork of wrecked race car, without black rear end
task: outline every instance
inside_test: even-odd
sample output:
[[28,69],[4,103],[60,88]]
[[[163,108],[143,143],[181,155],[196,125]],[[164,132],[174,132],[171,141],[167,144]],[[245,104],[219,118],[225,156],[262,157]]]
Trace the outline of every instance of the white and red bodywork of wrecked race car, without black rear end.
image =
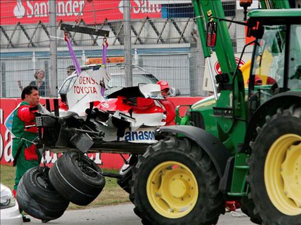
[[[76,113],[94,124],[92,129],[101,132],[103,142],[155,143],[155,129],[174,120],[175,107],[161,95],[160,85],[138,84],[104,98],[99,84],[107,88],[110,75],[100,65],[89,65],[68,80],[59,90],[60,119]],[[156,82],[154,77],[149,80]]]

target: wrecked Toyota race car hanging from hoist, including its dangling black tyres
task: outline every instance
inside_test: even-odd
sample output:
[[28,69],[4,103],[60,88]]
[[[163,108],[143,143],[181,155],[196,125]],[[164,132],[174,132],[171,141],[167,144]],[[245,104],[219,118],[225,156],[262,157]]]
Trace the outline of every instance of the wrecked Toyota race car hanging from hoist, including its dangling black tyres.
[[[84,70],[69,85],[69,89],[61,93],[62,102],[68,110],[66,107],[59,109],[57,99],[54,99],[53,113],[50,112],[49,100],[46,101],[46,109],[39,107],[36,115],[39,130],[37,148],[44,152],[50,150],[64,154],[50,170],[39,170],[37,176],[40,179],[27,179],[26,176],[32,175],[31,172],[27,173],[21,182],[24,188],[20,190],[39,186],[39,191],[44,188],[46,195],[49,193],[43,201],[52,199],[53,195],[57,198],[59,194],[66,202],[78,205],[87,205],[97,197],[105,185],[104,176],[119,179],[119,185],[126,190],[132,161],[137,155],[143,154],[148,145],[157,142],[156,128],[167,123],[168,112],[164,106],[166,104],[162,103],[164,97],[160,85],[139,84],[122,88],[105,99],[101,92],[108,80],[109,75],[102,67]],[[87,152],[130,154],[129,160],[124,159],[125,164],[129,164],[126,174],[101,171],[85,155]],[[38,185],[39,180],[43,180],[43,184]],[[20,194],[19,204],[34,217],[53,219],[59,217],[65,208],[64,203],[64,207],[55,215],[47,214],[51,210],[41,213],[43,207],[39,202],[42,201],[30,200],[39,196],[25,195],[25,192]]]

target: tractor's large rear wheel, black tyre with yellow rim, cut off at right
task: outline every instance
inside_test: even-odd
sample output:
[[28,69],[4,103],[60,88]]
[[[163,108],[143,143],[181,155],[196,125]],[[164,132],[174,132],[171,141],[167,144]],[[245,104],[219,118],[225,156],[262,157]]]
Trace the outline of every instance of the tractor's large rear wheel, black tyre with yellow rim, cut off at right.
[[248,161],[254,213],[263,225],[300,225],[301,107],[266,116],[257,133]]

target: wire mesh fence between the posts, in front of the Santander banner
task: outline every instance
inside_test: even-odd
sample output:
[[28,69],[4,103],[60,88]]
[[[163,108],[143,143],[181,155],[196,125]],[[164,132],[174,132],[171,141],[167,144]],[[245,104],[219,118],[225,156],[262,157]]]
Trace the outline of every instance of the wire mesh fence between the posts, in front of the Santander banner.
[[[60,24],[74,24],[76,20],[81,27],[96,26],[110,32],[107,57],[119,57],[119,61],[110,63],[107,70],[111,74],[123,73],[113,86],[124,86],[122,3],[122,0],[56,1],[58,86],[67,77],[67,66],[72,65]],[[130,3],[132,65],[139,68],[139,72],[133,69],[133,73],[166,80],[183,96],[206,96],[205,61],[191,1],[137,0]],[[23,86],[28,85],[38,69],[45,70],[45,81],[51,83],[49,40],[53,37],[50,37],[48,1],[2,0],[1,4],[2,12],[10,12],[0,16],[1,97],[20,97],[18,81]],[[243,20],[243,10],[236,1],[223,1],[223,8],[227,19]],[[245,44],[244,28],[232,23],[228,23],[228,27],[234,52],[239,55]],[[102,37],[72,32],[69,37],[81,65],[90,58],[101,58]],[[251,47],[246,52],[246,57],[250,58]]]

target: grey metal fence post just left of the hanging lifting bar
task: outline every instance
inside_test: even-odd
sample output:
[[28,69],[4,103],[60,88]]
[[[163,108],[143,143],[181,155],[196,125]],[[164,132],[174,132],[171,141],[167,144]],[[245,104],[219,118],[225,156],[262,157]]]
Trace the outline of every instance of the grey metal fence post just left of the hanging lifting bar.
[[[56,0],[49,0],[49,26],[50,36],[56,37]],[[55,38],[50,38],[50,84],[51,96],[57,96],[57,43]]]

